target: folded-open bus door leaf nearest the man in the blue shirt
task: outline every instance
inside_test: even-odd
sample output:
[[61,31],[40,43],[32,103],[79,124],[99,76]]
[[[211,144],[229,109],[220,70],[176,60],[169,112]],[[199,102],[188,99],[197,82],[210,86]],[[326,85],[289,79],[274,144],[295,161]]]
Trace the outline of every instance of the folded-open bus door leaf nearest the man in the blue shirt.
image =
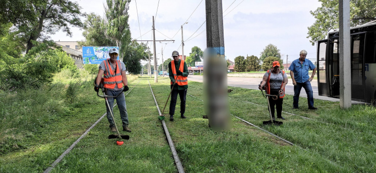
[[317,47],[317,87],[318,87],[318,94],[329,96],[328,88],[329,85],[327,83],[327,67],[326,67],[326,50],[327,48],[327,39],[319,40],[318,47]]

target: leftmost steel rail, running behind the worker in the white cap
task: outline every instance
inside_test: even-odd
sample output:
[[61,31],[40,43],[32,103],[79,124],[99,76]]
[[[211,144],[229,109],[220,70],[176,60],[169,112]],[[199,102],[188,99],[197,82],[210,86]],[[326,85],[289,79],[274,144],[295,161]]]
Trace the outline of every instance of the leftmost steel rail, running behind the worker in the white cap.
[[[137,83],[136,83],[136,85],[139,83],[140,81],[138,81]],[[136,87],[136,85],[134,85],[133,87],[132,87],[132,89],[134,88],[134,87]],[[132,89],[130,89],[124,96],[126,96],[126,95],[128,95],[128,93],[132,90]],[[116,103],[112,106],[112,107],[115,107],[116,106]],[[101,121],[102,120],[102,118],[105,116],[107,114],[107,112],[106,113],[104,113],[97,121],[95,121],[95,123],[93,124],[93,125],[91,125],[75,142],[73,142],[73,144],[71,145],[71,146],[69,146],[68,147],[68,149],[66,149],[52,164],[51,164],[51,166],[49,166],[49,167],[47,167],[47,169],[45,170],[45,171],[43,171],[44,173],[48,173],[48,172],[50,172],[63,158],[64,158],[64,156],[66,155],[66,154],[68,154],[75,146],[76,146],[76,144],[87,134],[87,133],[89,133],[89,131],[95,126],[95,125],[97,125],[97,123],[99,122],[99,121]]]

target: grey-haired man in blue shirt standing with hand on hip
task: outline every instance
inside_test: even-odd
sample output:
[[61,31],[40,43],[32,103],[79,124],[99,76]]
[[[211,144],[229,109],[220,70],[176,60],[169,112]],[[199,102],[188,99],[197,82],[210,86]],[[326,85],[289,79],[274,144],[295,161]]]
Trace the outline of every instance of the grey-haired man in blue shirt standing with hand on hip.
[[[316,73],[316,66],[309,59],[305,59],[307,56],[306,50],[300,51],[299,55],[299,59],[292,61],[289,67],[292,84],[294,84],[293,108],[299,108],[299,94],[302,87],[304,87],[307,93],[308,108],[316,110],[317,107],[313,106],[313,91],[311,86],[311,81]],[[309,77],[308,70],[312,69],[312,75]]]

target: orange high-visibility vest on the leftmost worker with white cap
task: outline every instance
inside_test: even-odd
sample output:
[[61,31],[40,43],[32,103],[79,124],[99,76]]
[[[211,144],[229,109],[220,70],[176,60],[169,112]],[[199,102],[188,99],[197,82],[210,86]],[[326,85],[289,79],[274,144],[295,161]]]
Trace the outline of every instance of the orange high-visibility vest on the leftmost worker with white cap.
[[113,89],[115,88],[115,84],[117,83],[117,87],[122,88],[123,77],[121,76],[120,60],[116,60],[115,73],[111,68],[109,59],[104,60],[104,66],[107,72],[104,73],[103,87]]

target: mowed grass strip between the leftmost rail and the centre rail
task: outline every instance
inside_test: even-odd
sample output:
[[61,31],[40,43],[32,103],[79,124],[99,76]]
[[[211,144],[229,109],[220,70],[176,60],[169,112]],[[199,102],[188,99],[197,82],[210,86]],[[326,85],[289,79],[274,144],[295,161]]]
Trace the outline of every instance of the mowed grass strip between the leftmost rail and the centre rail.
[[[107,139],[110,132],[107,118],[103,118],[90,133],[62,160],[53,172],[175,172],[177,169],[151,95],[147,78],[125,96],[129,127],[122,131],[119,109],[114,117],[121,134],[129,140],[116,145],[117,139]],[[138,81],[133,81],[134,85]],[[100,104],[105,104],[104,99]],[[105,109],[103,109],[105,111]]]

